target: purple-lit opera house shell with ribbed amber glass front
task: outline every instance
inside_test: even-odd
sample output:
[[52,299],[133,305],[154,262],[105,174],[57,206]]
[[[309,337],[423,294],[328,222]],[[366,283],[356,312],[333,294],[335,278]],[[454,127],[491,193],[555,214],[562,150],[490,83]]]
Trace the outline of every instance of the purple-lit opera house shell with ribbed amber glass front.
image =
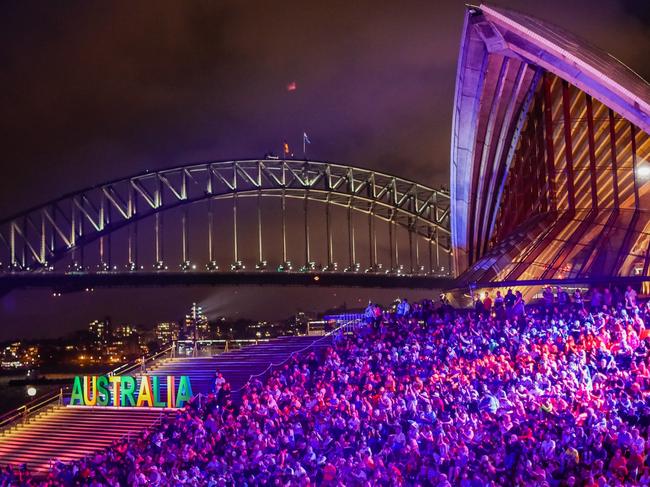
[[466,282],[648,276],[650,85],[559,27],[468,7],[451,146]]

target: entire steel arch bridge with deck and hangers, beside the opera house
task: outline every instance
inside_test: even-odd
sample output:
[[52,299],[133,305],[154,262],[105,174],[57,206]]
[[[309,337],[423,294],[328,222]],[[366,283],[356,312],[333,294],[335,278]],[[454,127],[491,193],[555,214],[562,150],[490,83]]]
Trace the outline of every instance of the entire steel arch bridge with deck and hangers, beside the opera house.
[[0,222],[3,290],[451,281],[449,193],[308,160],[207,162],[67,194]]

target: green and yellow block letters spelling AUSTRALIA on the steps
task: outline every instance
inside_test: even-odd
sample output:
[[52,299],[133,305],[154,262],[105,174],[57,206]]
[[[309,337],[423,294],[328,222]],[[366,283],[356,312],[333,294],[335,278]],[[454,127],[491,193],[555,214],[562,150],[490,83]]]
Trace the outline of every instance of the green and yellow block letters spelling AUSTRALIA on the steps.
[[[167,390],[161,392],[161,386]],[[178,387],[173,375],[164,376],[163,380],[156,375],[77,376],[70,405],[180,408],[191,398],[192,386],[187,375],[179,378]]]

